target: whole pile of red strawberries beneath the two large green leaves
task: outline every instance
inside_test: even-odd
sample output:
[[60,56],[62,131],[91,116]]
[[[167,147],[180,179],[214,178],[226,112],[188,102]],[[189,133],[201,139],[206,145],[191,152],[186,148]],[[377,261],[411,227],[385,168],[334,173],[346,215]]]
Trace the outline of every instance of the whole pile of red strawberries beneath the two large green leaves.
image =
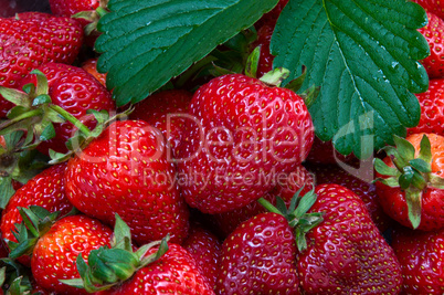
[[269,42],[288,0],[255,24],[260,78],[124,107],[88,59],[92,20],[70,17],[106,1],[50,2],[0,19],[0,176],[15,190],[1,292],[444,294],[440,1],[416,0],[431,48],[421,122],[374,160],[317,139],[310,97],[279,86]]

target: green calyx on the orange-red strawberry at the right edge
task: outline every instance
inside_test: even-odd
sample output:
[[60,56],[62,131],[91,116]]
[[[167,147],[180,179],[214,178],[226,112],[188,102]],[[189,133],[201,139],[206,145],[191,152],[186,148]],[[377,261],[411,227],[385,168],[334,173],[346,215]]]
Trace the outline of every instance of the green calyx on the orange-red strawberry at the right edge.
[[406,139],[394,136],[393,146],[383,148],[394,167],[388,166],[379,158],[374,159],[374,169],[383,177],[374,181],[400,188],[405,192],[409,220],[413,229],[421,223],[422,193],[426,188],[444,189],[444,179],[432,171],[432,151],[427,136],[423,136],[417,157],[415,149]]

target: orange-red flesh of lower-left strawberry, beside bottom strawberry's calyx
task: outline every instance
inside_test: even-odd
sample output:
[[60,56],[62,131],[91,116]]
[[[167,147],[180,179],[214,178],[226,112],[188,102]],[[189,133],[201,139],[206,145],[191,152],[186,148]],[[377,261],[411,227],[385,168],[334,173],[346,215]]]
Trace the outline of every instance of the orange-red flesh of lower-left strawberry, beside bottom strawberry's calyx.
[[85,215],[66,217],[55,222],[39,239],[32,253],[31,270],[36,284],[57,294],[88,294],[60,280],[80,278],[76,259],[87,259],[92,250],[109,246],[113,231]]

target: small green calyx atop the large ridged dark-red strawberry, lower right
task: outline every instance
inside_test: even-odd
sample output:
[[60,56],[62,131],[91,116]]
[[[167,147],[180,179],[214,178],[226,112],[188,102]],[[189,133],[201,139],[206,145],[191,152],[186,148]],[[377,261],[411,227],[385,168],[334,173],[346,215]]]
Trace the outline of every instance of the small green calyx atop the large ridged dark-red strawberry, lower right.
[[299,251],[307,249],[306,234],[324,221],[323,212],[308,213],[308,210],[316,202],[317,194],[311,190],[300,196],[303,189],[300,188],[293,196],[288,207],[281,197],[276,197],[276,206],[264,198],[257,200],[269,212],[281,214],[288,221],[288,225],[295,231],[296,245]]

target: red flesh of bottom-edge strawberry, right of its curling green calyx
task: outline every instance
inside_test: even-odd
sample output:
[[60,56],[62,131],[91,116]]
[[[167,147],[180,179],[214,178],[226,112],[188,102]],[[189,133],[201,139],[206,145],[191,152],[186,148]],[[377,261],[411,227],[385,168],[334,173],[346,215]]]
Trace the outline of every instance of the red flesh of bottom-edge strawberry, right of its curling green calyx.
[[[147,255],[157,249],[151,249]],[[170,243],[168,252],[158,261],[139,270],[129,281],[97,295],[120,294],[187,294],[212,295],[212,287],[198,270],[194,259],[178,244]]]

